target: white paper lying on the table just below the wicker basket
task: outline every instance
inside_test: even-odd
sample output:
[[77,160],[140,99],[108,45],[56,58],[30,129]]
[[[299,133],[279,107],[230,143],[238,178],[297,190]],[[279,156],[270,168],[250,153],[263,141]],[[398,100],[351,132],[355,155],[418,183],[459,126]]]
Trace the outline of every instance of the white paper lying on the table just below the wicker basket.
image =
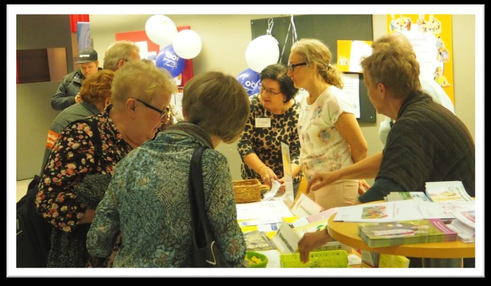
[[269,200],[248,204],[237,204],[237,220],[292,217],[282,201]]

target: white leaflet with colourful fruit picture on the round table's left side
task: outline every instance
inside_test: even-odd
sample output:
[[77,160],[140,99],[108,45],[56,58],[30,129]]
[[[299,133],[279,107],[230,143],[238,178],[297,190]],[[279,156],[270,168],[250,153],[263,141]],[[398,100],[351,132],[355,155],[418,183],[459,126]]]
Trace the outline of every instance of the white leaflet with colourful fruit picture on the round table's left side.
[[407,200],[338,208],[334,221],[391,222],[423,219],[420,201]]

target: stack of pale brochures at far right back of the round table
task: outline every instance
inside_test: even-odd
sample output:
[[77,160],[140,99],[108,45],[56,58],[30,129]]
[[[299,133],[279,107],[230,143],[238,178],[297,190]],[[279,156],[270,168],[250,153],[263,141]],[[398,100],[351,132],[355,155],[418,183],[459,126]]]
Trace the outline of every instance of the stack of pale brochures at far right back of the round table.
[[425,188],[432,202],[472,201],[460,181],[426,182]]

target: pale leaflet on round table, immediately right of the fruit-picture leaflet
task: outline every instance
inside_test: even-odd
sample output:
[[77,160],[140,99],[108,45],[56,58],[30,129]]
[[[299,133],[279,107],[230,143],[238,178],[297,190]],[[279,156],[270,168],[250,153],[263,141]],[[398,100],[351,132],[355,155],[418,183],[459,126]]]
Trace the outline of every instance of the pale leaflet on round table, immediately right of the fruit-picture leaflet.
[[474,201],[422,202],[419,209],[423,218],[454,219],[457,211],[473,211]]

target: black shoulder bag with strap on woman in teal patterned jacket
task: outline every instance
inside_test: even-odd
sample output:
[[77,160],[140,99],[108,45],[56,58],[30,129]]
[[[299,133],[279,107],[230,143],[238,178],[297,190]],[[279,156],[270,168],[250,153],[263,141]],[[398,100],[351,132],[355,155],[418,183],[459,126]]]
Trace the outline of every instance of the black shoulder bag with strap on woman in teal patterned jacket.
[[189,171],[189,201],[191,203],[191,235],[193,239],[191,257],[188,267],[232,267],[223,256],[210,229],[208,215],[205,211],[203,193],[203,169],[201,156],[206,149],[200,146],[195,149]]

